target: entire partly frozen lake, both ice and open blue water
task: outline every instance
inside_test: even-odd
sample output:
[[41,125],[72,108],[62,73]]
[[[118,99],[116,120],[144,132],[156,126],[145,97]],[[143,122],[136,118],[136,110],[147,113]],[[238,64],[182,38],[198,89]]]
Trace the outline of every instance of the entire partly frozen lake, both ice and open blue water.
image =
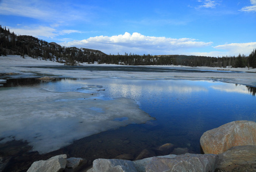
[[89,164],[119,155],[134,160],[143,150],[161,155],[165,143],[174,144],[170,154],[201,153],[203,132],[256,122],[253,70],[0,60],[0,157],[11,171],[58,154]]

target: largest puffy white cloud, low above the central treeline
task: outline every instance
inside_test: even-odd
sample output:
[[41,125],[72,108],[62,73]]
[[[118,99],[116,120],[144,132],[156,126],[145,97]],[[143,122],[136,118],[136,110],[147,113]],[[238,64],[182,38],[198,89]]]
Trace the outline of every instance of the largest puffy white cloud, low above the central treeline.
[[119,34],[118,36],[96,36],[86,40],[75,40],[71,42],[60,43],[63,46],[77,46],[91,49],[100,49],[103,52],[115,53],[153,53],[157,52],[173,52],[176,50],[184,50],[189,48],[200,48],[209,46],[212,42],[196,41],[192,38],[166,38],[144,36],[140,33]]

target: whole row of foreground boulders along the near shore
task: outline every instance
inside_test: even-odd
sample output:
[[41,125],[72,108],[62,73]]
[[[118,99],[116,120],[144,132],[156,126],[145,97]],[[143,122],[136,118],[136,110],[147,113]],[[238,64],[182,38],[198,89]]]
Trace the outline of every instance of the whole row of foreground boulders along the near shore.
[[[224,124],[204,132],[200,139],[205,154],[165,155],[136,161],[95,159],[91,169],[83,169],[86,159],[57,155],[46,161],[36,161],[32,171],[256,171],[256,123],[242,120]],[[172,144],[159,147],[166,151]],[[125,155],[123,155],[125,156]],[[141,158],[141,159],[140,159]]]

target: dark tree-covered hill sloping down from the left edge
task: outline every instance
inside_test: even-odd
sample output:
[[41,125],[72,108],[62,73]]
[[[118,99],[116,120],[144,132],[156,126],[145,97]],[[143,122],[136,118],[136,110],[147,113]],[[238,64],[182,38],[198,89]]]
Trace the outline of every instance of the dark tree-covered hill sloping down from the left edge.
[[74,65],[76,62],[94,63],[107,56],[100,50],[64,47],[32,36],[17,36],[0,25],[0,56],[7,54],[28,55],[33,58],[52,60]]

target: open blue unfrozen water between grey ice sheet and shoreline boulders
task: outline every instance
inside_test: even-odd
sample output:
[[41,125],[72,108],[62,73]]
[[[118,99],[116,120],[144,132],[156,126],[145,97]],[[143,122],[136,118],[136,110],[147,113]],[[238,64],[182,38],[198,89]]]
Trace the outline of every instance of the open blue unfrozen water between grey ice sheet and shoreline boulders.
[[[134,99],[141,110],[156,120],[129,124],[75,141],[57,153],[87,159],[115,158],[131,154],[134,159],[143,149],[159,155],[157,147],[165,143],[185,152],[201,153],[203,132],[234,120],[256,122],[254,87],[214,81],[126,80],[126,79],[37,79],[8,80],[2,89],[40,88],[52,92],[84,92],[102,100],[118,97]],[[92,107],[92,111],[102,110]],[[123,110],[125,111],[125,110]],[[123,122],[123,116],[114,121]],[[26,138],[24,138],[25,140]],[[173,152],[174,153],[174,150]]]

